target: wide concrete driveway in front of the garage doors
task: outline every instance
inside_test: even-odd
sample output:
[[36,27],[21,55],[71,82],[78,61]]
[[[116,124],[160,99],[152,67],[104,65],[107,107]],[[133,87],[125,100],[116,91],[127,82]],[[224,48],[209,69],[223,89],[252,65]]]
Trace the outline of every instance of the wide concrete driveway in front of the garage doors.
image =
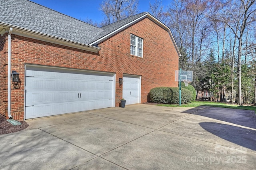
[[27,121],[0,169],[256,169],[254,111],[129,105]]

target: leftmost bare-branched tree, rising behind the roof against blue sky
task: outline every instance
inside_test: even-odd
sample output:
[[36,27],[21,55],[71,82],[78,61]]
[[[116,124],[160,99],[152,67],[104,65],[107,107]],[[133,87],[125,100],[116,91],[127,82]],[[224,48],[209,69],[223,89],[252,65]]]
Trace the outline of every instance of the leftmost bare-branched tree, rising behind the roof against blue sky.
[[120,21],[137,13],[138,0],[104,0],[100,5],[100,10],[105,17],[101,26],[106,26],[116,21]]

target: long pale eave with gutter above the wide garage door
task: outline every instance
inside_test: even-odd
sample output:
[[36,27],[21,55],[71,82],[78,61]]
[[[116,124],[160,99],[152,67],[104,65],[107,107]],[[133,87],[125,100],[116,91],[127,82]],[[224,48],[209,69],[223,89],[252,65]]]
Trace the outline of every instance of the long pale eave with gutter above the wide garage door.
[[10,27],[13,28],[12,34],[16,34],[19,36],[33,38],[36,40],[55,43],[55,44],[64,45],[64,46],[68,46],[68,47],[73,47],[76,49],[82,49],[82,50],[86,50],[86,51],[90,51],[90,52],[94,52],[94,53],[98,53],[98,51],[100,51],[100,47],[95,47],[95,46],[88,45],[88,44],[78,43],[78,42],[74,42],[71,40],[66,40],[64,38],[59,38],[59,37],[51,36],[48,34],[36,32],[33,30],[27,30],[25,28],[20,28],[17,26],[12,26],[12,25],[0,22],[0,28],[1,28],[0,31],[2,32],[1,34],[6,32],[6,30],[9,30]]

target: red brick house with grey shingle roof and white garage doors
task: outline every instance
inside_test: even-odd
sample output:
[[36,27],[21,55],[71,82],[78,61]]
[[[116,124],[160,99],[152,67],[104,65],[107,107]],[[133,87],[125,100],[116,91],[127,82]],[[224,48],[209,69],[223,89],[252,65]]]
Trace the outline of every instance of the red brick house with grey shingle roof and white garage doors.
[[122,98],[126,105],[144,103],[150,89],[178,86],[178,47],[170,29],[147,12],[97,28],[28,0],[0,1],[0,11],[6,117],[119,107]]

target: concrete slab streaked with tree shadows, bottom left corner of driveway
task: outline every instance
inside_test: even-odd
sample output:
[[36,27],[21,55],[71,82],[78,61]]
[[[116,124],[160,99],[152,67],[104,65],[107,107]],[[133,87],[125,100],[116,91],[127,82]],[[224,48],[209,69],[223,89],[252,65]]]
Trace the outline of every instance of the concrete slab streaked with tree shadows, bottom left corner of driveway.
[[40,129],[2,134],[0,141],[1,170],[71,169],[96,157]]

